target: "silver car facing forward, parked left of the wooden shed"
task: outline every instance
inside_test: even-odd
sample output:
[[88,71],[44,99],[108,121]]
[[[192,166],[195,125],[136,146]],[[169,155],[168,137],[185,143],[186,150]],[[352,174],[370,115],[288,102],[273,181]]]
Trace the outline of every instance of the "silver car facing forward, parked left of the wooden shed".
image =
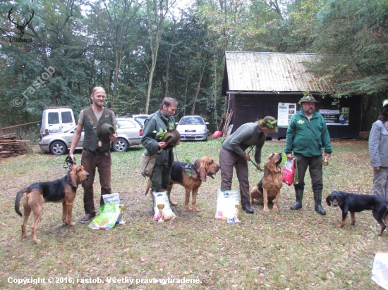
[[205,122],[201,116],[189,115],[179,120],[176,130],[181,134],[182,141],[207,141],[207,125],[209,122]]

